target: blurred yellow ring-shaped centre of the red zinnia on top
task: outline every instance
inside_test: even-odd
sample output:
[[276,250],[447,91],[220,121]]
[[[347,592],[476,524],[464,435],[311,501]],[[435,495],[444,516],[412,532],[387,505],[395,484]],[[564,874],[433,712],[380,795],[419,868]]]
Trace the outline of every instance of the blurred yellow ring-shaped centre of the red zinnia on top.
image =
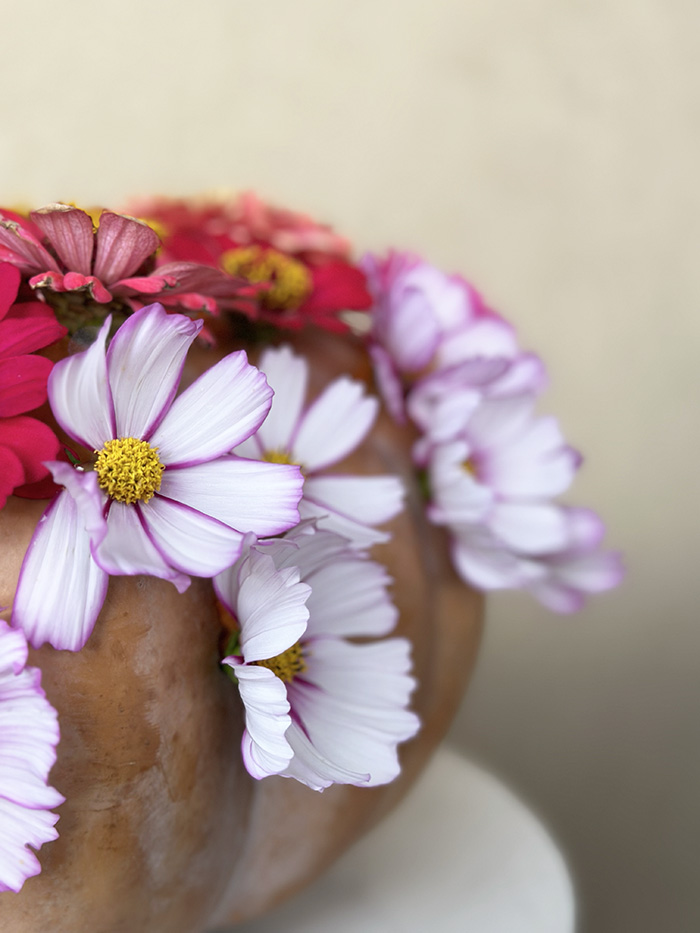
[[270,288],[260,300],[271,311],[298,308],[311,291],[311,275],[304,263],[275,249],[230,249],[221,257],[221,265],[229,275],[240,275],[254,284],[268,282]]

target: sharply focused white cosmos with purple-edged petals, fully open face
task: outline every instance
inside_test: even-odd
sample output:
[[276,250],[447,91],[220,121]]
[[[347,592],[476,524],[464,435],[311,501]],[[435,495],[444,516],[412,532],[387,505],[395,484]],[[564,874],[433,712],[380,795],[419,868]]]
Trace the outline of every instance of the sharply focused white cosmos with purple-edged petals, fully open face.
[[274,535],[299,520],[297,467],[252,463],[230,451],[267,415],[272,391],[243,351],[178,398],[201,321],[150,305],[106,349],[110,319],[84,353],[54,366],[56,420],[94,469],[48,464],[64,490],[25,555],[13,623],[33,645],[78,650],[92,631],[110,574],[149,574],[180,592],[238,557],[243,535]]

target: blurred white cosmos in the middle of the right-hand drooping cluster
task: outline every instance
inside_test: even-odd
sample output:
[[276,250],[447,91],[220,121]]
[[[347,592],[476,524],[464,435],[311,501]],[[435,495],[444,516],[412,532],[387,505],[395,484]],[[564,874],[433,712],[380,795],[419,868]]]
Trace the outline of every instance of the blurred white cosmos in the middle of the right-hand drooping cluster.
[[569,487],[580,457],[554,419],[534,414],[534,401],[482,398],[453,439],[429,448],[428,516],[452,533],[458,572],[483,589],[532,582],[544,571],[527,558],[569,541],[551,500]]

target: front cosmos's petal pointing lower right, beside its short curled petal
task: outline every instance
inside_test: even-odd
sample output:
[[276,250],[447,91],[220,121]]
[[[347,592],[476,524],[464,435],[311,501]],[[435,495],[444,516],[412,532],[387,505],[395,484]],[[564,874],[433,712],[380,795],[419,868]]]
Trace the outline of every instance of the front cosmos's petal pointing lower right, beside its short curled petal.
[[167,563],[183,573],[213,577],[241,552],[240,532],[189,506],[154,496],[139,509],[152,542]]

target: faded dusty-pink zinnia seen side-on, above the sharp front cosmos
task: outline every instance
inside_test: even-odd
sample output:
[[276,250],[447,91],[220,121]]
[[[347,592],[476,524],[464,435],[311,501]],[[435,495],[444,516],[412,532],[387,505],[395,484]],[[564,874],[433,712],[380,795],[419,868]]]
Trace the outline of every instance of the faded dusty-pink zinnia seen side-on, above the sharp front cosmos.
[[85,292],[98,304],[121,298],[132,307],[158,298],[190,310],[214,311],[215,299],[236,297],[246,304],[248,283],[195,262],[173,262],[144,272],[160,245],[145,223],[103,211],[97,231],[85,211],[50,204],[29,219],[0,213],[0,259],[29,277],[32,288]]

